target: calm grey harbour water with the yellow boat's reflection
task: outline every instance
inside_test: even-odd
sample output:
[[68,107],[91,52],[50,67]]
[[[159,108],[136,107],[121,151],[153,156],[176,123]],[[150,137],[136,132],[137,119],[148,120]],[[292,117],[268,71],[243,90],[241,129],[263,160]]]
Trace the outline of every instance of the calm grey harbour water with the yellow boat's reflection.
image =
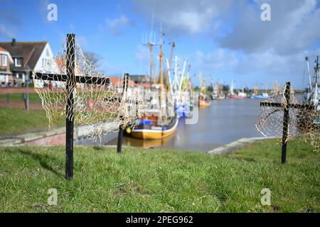
[[[208,151],[240,138],[261,136],[255,123],[262,99],[225,99],[211,101],[207,108],[199,110],[198,123],[186,125],[179,119],[174,135],[162,140],[139,140],[124,137],[123,144],[142,148],[170,148],[178,150]],[[109,145],[116,145],[112,140]]]

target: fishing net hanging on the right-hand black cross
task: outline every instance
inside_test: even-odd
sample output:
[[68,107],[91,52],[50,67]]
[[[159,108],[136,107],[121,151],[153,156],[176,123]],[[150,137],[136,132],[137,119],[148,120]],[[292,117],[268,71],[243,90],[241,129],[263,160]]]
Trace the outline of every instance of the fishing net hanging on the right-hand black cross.
[[[260,116],[255,128],[264,136],[282,137],[283,129],[288,131],[287,141],[297,138],[312,145],[315,151],[320,149],[320,111],[315,109],[302,108],[294,94],[289,92],[289,119],[288,128],[284,128],[284,106],[287,105],[285,87],[277,90],[260,106]],[[274,107],[271,103],[281,104],[281,107]]]

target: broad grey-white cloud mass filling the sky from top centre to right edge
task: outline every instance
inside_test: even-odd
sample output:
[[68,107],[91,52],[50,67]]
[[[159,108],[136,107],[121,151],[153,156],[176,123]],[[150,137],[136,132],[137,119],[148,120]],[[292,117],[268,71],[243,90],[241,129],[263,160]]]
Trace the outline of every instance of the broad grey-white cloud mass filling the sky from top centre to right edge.
[[[320,51],[320,2],[231,2],[232,6],[230,1],[134,0],[134,6],[148,22],[154,11],[154,25],[162,23],[166,33],[210,37],[215,50],[206,50],[208,45],[203,44],[188,57],[194,72],[221,74],[251,85],[291,80],[294,87],[301,87],[304,57]],[[260,6],[266,2],[272,21],[260,18]]]

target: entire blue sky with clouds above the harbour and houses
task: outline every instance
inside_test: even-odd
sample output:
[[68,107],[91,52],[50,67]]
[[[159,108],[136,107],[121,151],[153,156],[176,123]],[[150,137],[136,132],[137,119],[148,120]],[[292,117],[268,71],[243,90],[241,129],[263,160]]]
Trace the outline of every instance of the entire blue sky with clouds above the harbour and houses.
[[[175,41],[174,55],[188,59],[191,74],[203,72],[207,82],[235,79],[236,87],[264,88],[290,80],[301,88],[307,82],[304,57],[320,55],[316,0],[0,1],[1,41],[48,40],[57,53],[65,35],[75,33],[110,75],[149,72],[142,35],[151,30],[153,12],[154,31],[161,24],[165,33],[165,57]],[[47,19],[50,3],[58,6],[58,21]],[[271,21],[261,21],[263,3],[270,4]]]

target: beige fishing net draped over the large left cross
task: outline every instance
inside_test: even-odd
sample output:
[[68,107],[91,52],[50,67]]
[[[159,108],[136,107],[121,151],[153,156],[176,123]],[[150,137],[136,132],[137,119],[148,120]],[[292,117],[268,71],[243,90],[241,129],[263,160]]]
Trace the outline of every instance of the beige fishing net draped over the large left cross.
[[[102,134],[118,131],[119,127],[137,125],[143,109],[137,89],[129,80],[112,84],[87,60],[77,40],[73,42],[72,55],[68,55],[67,41],[53,59],[44,62],[39,72],[33,72],[49,126],[67,117],[77,125],[92,125],[95,129],[88,136],[101,139]],[[42,77],[38,77],[39,73]],[[70,74],[75,77],[69,78]]]

